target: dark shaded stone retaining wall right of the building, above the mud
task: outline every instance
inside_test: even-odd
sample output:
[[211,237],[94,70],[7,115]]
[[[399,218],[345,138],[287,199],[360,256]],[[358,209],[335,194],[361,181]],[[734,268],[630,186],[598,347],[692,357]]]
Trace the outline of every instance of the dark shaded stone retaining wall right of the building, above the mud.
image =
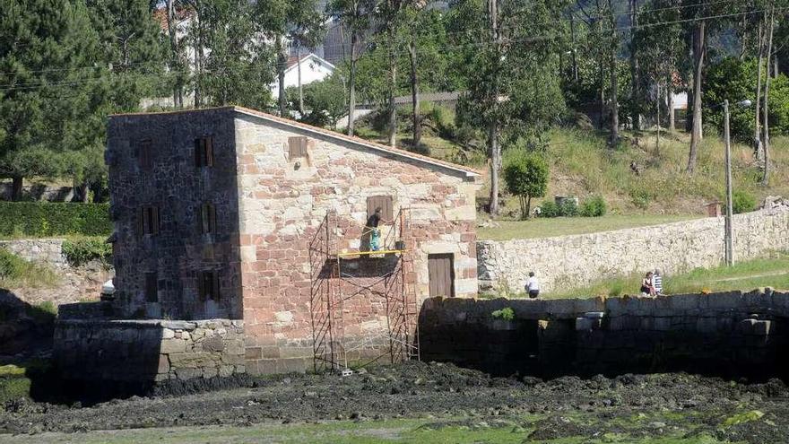
[[[512,320],[492,312],[510,308]],[[421,357],[497,374],[784,376],[789,292],[591,300],[427,300]]]

